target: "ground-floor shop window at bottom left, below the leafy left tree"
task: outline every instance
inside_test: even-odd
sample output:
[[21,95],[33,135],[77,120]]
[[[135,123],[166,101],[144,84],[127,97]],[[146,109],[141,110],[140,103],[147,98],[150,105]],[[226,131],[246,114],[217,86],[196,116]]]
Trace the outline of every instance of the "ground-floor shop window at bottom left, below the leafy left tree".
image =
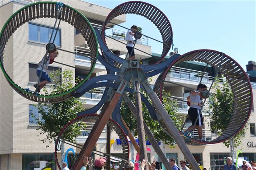
[[34,170],[34,168],[55,170],[54,154],[22,154],[22,170]]

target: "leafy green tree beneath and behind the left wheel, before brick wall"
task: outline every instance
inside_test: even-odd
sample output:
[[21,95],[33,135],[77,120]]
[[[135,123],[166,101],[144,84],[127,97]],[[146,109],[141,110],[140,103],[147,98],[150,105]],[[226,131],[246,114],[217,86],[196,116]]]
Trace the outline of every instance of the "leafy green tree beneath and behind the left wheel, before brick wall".
[[[51,74],[52,82],[55,85],[51,85],[50,90],[44,88],[46,95],[55,95],[66,92],[74,87],[73,72],[69,69],[61,72],[59,70]],[[49,91],[49,92],[48,92]],[[36,105],[38,113],[42,119],[37,119],[38,129],[40,134],[46,134],[46,137],[41,141],[52,143],[60,133],[61,129],[72,119],[76,118],[76,114],[83,110],[82,102],[80,98],[71,97],[66,101],[54,104],[42,104]],[[80,129],[84,127],[83,123],[76,123],[67,129],[62,136],[69,141],[74,141],[76,137],[81,133]],[[48,147],[48,145],[47,145]]]

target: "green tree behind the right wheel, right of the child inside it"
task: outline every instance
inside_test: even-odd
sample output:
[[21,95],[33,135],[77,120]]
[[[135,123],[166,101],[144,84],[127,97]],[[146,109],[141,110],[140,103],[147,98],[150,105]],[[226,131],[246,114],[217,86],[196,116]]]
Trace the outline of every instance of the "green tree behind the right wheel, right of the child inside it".
[[[223,77],[221,77],[223,78]],[[209,119],[211,120],[211,129],[215,130],[218,135],[221,135],[228,127],[228,123],[232,118],[234,96],[228,82],[223,79],[223,82],[216,78],[213,84],[213,94],[209,97]],[[234,136],[233,146],[238,147],[242,143],[247,130],[246,126]],[[230,141],[225,141],[223,144],[229,147]]]

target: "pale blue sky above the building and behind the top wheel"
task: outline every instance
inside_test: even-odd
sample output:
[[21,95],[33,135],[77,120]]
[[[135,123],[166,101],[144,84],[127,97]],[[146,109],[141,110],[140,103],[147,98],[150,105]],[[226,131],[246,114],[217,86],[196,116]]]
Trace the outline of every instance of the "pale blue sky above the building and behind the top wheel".
[[[123,0],[86,0],[114,9]],[[236,60],[244,69],[249,60],[256,61],[256,1],[250,0],[144,0],[166,14],[173,30],[174,47],[179,54],[197,49],[211,49],[224,52]],[[130,28],[135,24],[142,27],[142,33],[161,41],[158,29],[141,16],[126,15]],[[123,30],[123,28],[115,27]],[[161,53],[162,45],[149,41],[152,52]],[[170,51],[171,52],[171,51]]]

